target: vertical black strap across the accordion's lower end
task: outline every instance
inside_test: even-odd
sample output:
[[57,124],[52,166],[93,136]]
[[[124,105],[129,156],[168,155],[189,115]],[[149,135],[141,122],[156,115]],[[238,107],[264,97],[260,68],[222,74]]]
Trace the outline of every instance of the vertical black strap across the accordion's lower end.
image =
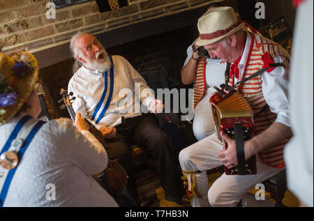
[[246,175],[246,155],[244,153],[244,142],[241,122],[234,122],[234,135],[235,135],[234,138],[236,140],[239,175]]

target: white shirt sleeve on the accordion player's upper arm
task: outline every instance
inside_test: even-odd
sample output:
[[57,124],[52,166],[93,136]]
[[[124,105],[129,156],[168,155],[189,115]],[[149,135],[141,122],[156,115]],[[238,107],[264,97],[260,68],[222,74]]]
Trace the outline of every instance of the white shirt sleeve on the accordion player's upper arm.
[[288,100],[289,61],[281,56],[274,58],[276,63],[283,63],[285,67],[277,67],[270,73],[262,73],[262,91],[264,99],[271,112],[277,114],[277,123],[290,127],[290,103]]

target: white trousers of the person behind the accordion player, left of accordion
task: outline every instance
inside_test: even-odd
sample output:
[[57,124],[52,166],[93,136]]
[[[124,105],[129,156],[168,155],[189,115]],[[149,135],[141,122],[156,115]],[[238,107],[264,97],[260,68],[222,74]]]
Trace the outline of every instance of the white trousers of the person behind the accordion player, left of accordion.
[[215,132],[214,119],[211,114],[209,97],[214,89],[208,89],[207,94],[197,103],[194,109],[193,132],[197,140],[204,139]]

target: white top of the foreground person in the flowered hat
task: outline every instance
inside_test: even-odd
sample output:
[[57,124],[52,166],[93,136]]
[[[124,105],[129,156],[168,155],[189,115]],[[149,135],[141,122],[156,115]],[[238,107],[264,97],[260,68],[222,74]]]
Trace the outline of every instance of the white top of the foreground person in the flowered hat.
[[[0,126],[0,150],[21,117]],[[17,165],[3,206],[118,206],[91,177],[107,167],[105,148],[90,132],[82,133],[87,137],[69,119],[45,123]],[[50,183],[55,200],[49,200]]]

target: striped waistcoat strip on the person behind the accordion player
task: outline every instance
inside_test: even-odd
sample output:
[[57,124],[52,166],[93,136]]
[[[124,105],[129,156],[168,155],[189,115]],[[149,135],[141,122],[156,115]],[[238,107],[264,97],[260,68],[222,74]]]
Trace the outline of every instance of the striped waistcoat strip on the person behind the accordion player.
[[196,79],[194,83],[193,104],[195,107],[197,103],[204,96],[206,79],[206,59],[202,59],[197,62]]

